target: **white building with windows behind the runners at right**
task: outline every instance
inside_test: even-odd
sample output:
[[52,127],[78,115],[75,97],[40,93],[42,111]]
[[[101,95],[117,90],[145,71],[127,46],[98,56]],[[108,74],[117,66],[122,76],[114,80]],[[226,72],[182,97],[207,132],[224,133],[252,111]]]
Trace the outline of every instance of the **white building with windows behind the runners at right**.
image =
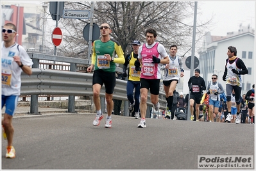
[[252,89],[255,83],[255,34],[254,29],[239,29],[237,32],[229,32],[227,37],[212,37],[210,33],[205,37],[205,46],[198,51],[200,54],[201,77],[205,83],[210,83],[212,74],[218,75],[218,81],[225,89],[222,80],[225,71],[225,62],[228,58],[228,46],[237,48],[237,57],[244,61],[249,73],[242,76],[242,94]]

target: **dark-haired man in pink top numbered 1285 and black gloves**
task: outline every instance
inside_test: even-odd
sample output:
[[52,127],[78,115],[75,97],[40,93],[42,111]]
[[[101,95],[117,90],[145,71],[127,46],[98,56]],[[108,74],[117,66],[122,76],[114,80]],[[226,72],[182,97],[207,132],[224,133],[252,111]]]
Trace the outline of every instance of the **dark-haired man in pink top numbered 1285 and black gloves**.
[[146,30],[147,43],[139,47],[138,59],[135,61],[135,69],[140,69],[141,66],[141,122],[138,127],[146,127],[146,110],[148,90],[150,89],[150,99],[155,110],[159,110],[159,83],[160,83],[160,63],[169,63],[169,56],[166,53],[164,45],[155,42],[157,39],[157,31],[155,29]]

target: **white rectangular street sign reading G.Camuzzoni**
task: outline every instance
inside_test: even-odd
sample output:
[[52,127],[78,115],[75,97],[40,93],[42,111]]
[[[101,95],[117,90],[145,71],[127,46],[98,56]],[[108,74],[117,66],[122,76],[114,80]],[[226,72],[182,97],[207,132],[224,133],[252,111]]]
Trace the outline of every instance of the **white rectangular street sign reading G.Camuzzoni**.
[[63,10],[64,19],[89,19],[89,15],[87,10]]

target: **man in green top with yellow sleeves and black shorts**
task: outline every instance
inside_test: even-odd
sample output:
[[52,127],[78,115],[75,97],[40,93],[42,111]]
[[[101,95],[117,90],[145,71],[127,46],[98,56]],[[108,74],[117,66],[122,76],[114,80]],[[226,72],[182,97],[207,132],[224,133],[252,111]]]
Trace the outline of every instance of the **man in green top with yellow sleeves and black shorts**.
[[[101,39],[95,40],[92,46],[92,63],[87,68],[87,72],[94,73],[92,76],[93,100],[96,106],[96,118],[92,122],[93,126],[99,126],[103,118],[99,93],[103,84],[105,85],[105,98],[107,101],[107,118],[105,127],[112,127],[112,101],[115,88],[115,63],[124,63],[124,53],[121,45],[116,40],[110,38],[112,29],[109,24],[103,23],[100,27]],[[117,55],[117,58],[115,58]]]

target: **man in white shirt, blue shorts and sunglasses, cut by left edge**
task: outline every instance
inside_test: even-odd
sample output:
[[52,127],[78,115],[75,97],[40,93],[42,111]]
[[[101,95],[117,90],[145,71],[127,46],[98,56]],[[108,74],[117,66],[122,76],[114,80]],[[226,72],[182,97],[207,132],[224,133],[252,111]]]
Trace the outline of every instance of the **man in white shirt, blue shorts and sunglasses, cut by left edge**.
[[1,70],[2,70],[2,108],[5,112],[2,120],[3,136],[7,138],[6,158],[15,158],[13,147],[12,118],[21,95],[21,72],[32,74],[33,62],[25,49],[15,42],[17,28],[12,23],[6,23],[2,29]]

